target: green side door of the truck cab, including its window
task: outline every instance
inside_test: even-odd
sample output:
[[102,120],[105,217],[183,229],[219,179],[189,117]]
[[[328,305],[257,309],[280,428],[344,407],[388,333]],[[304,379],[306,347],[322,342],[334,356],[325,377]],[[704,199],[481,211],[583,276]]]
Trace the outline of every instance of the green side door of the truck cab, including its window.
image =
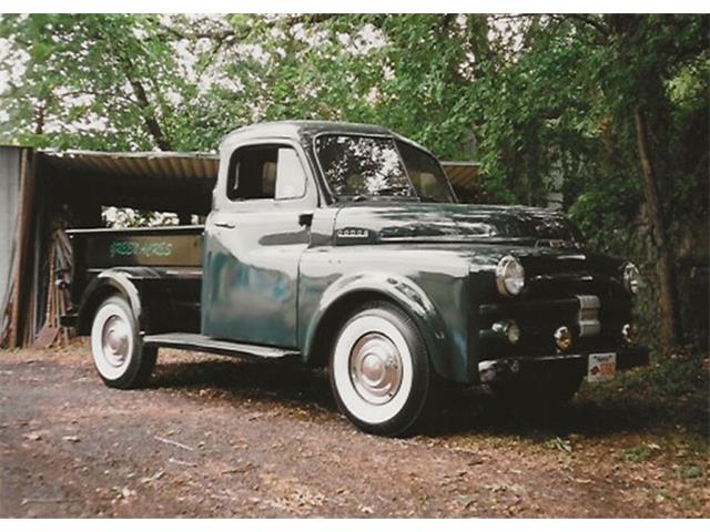
[[222,154],[205,224],[204,335],[297,346],[298,262],[316,205],[315,182],[298,145],[260,143]]

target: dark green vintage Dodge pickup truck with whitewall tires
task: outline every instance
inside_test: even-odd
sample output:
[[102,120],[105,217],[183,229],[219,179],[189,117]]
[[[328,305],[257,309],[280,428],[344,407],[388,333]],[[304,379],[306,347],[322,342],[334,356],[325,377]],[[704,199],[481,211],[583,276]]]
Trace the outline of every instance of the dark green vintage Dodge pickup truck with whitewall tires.
[[158,348],[327,367],[363,430],[415,431],[442,386],[549,406],[648,360],[639,272],[564,215],[464,205],[438,161],[386,129],[281,122],[223,141],[204,227],[77,229],[73,306],[115,388]]

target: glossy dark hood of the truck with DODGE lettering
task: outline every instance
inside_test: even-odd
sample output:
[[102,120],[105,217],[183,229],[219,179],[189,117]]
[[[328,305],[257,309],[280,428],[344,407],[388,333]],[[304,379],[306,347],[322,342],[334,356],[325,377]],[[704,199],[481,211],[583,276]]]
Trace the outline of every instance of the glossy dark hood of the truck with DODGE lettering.
[[389,243],[547,243],[576,247],[581,237],[559,212],[524,206],[465,204],[348,204],[334,226],[337,245]]

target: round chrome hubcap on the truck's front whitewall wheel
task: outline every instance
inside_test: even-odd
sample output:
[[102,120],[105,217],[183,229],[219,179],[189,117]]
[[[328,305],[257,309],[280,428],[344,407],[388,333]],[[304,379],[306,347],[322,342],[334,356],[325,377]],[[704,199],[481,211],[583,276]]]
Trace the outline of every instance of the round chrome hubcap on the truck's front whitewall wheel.
[[402,385],[402,358],[389,338],[368,332],[351,351],[351,380],[364,400],[372,405],[388,402]]

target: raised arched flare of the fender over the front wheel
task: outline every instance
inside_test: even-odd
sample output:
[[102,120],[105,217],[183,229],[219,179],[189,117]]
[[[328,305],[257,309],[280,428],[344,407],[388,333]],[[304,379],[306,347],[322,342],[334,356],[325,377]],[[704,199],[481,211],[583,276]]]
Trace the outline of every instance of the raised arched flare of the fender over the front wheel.
[[[437,374],[444,378],[456,380],[454,350],[446,325],[436,306],[412,279],[381,272],[346,275],[325,289],[306,328],[302,350],[306,362],[315,357],[314,346],[317,336],[324,334],[321,325],[327,317],[333,316],[333,313],[342,316],[342,304],[357,299],[358,295],[382,296],[383,299],[398,305],[415,321],[422,332]],[[349,305],[346,306],[346,308],[349,307]]]

